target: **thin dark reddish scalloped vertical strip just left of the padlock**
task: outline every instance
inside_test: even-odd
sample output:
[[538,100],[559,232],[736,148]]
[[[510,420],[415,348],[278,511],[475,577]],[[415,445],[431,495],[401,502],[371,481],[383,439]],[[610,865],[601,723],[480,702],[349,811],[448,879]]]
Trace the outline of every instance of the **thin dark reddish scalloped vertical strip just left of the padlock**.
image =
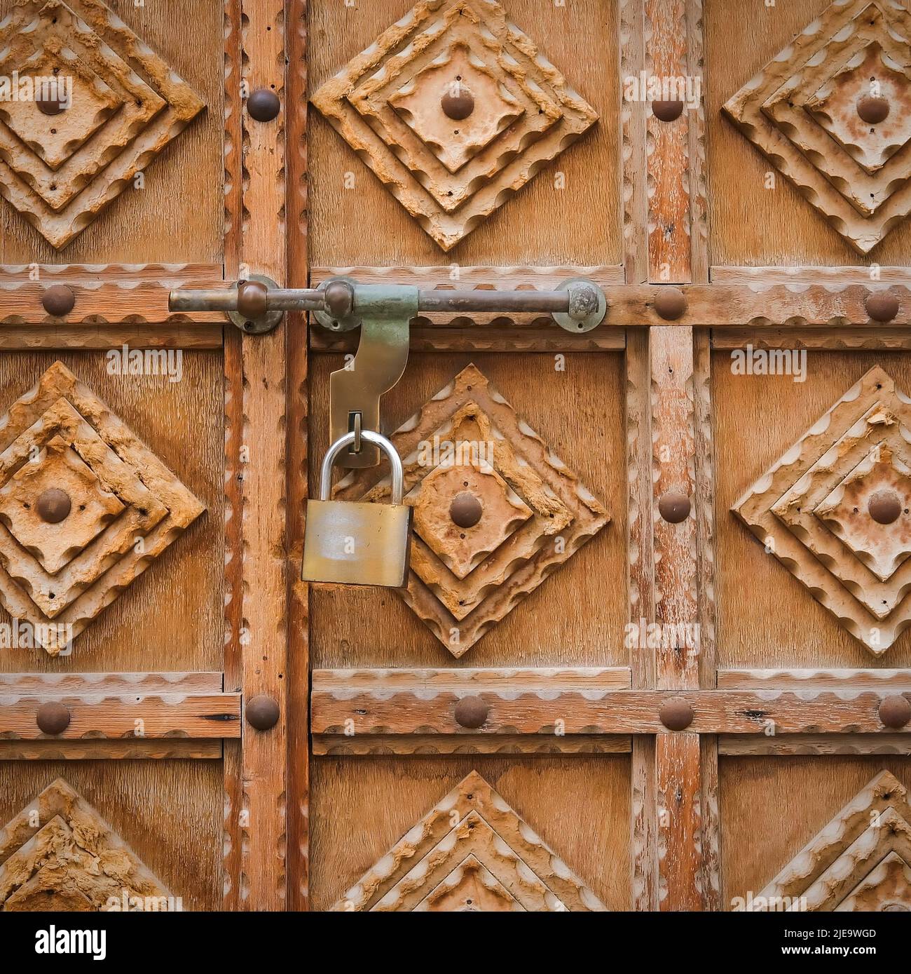
[[[288,285],[308,285],[307,2],[288,14]],[[288,316],[288,909],[310,891],[309,586],[300,581],[308,487],[307,317]]]

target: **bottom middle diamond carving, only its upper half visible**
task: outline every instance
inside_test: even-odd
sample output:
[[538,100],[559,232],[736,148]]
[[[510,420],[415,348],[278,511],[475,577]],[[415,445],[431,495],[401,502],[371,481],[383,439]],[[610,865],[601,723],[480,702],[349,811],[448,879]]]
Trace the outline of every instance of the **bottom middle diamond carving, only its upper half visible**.
[[604,907],[472,771],[333,909],[485,913]]

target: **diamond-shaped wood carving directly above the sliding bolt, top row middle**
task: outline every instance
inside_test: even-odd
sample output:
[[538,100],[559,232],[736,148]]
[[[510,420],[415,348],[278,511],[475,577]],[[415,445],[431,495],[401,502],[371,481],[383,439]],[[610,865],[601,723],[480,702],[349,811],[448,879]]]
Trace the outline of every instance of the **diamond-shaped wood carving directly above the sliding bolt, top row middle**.
[[444,250],[598,120],[494,0],[423,0],[311,100]]

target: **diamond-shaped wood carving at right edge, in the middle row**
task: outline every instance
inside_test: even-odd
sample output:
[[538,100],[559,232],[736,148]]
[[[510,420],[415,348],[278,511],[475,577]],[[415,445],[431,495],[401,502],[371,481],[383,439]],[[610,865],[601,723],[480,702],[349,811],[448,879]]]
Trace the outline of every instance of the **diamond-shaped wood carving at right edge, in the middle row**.
[[732,510],[871,653],[911,624],[911,404],[878,365]]

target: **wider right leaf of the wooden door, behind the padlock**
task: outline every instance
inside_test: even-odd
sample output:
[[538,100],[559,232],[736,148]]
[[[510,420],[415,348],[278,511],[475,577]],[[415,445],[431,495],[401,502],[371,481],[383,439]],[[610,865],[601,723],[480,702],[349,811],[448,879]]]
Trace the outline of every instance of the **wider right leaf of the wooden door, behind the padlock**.
[[[585,276],[608,310],[413,321],[411,574],[310,590],[292,903],[911,907],[909,25],[310,4],[310,284]],[[356,343],[310,324],[310,496]],[[335,491],[388,500],[386,468]]]

